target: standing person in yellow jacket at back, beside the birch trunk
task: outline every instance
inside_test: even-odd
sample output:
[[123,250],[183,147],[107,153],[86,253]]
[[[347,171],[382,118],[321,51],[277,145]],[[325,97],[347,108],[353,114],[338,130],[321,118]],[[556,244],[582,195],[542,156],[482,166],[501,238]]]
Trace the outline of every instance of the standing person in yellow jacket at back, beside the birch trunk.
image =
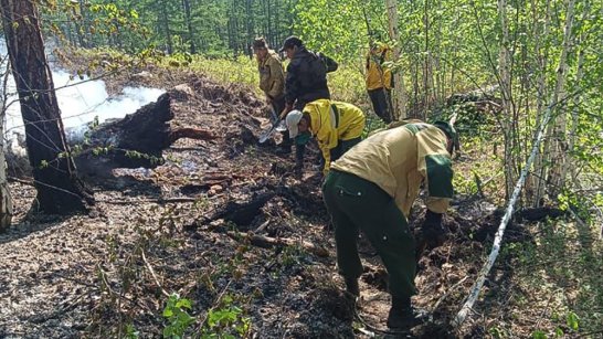
[[367,91],[371,98],[374,113],[385,123],[393,120],[391,91],[393,87],[392,72],[383,65],[392,60],[392,50],[381,42],[371,43],[367,53]]

